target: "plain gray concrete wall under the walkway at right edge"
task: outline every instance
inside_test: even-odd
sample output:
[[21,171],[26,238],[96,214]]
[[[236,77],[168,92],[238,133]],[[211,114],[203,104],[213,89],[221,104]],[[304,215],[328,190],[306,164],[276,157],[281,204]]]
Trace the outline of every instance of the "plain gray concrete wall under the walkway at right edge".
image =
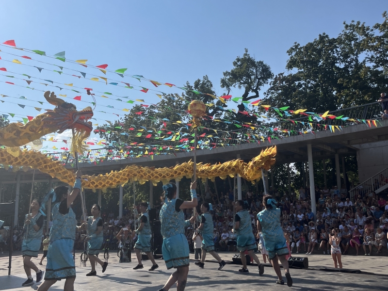
[[357,145],[358,178],[365,181],[388,167],[388,143],[380,141]]

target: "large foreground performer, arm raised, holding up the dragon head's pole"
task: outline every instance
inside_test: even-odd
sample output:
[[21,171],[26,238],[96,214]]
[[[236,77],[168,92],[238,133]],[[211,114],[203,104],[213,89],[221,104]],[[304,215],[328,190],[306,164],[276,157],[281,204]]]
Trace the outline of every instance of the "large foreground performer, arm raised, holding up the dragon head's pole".
[[81,191],[81,171],[76,173],[73,191],[69,193],[66,186],[54,189],[56,204],[52,207],[52,226],[50,230],[50,245],[47,252],[47,265],[45,281],[38,291],[47,291],[58,280],[65,279],[64,291],[74,290],[76,267],[73,259],[73,247],[76,229],[78,227],[76,215],[71,209],[71,204]]

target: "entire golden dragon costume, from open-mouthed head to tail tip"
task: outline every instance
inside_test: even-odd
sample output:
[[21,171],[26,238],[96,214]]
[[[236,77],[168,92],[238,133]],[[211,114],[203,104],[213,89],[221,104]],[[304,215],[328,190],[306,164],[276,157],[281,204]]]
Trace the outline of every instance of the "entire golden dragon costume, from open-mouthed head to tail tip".
[[[0,149],[0,163],[5,167],[12,165],[16,171],[20,167],[31,167],[50,175],[52,178],[58,178],[62,182],[72,184],[75,173],[66,169],[60,162],[53,161],[34,150],[20,150],[19,146],[40,139],[45,134],[51,132],[63,132],[65,129],[75,129],[76,136],[73,141],[76,151],[83,152],[83,141],[89,137],[92,131],[92,124],[88,122],[93,116],[90,107],[77,111],[76,107],[64,100],[57,98],[50,91],[44,94],[46,100],[55,105],[54,110],[47,110],[47,113],[37,115],[25,125],[21,123],[12,123],[0,129],[0,145],[7,146]],[[36,144],[39,144],[36,143]],[[234,177],[239,174],[248,181],[254,181],[261,178],[261,169],[266,170],[275,164],[276,146],[262,150],[260,154],[252,161],[246,163],[242,160],[233,160],[222,164],[203,164],[198,163],[196,175],[199,178],[215,177],[225,179],[227,176]],[[191,178],[194,171],[193,162],[184,162],[170,168],[153,168],[130,165],[120,171],[112,171],[105,175],[82,176],[82,187],[88,189],[103,189],[123,185],[128,181],[139,181],[145,183],[151,181],[155,186],[162,181],[167,183],[171,179],[180,180],[183,177]]]

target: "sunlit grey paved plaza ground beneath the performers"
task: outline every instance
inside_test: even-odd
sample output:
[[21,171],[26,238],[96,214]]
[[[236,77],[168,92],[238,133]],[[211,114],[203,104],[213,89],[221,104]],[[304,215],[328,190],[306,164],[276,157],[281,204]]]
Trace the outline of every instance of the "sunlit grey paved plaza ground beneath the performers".
[[[193,257],[193,255],[191,255]],[[222,253],[221,257],[231,261],[233,254]],[[260,256],[260,255],[259,255]],[[41,255],[39,256],[39,258]],[[211,257],[210,257],[211,258]],[[209,258],[209,259],[210,259]],[[194,258],[193,258],[194,259]],[[308,257],[309,268],[332,267],[331,256],[312,255]],[[38,259],[33,259],[37,264]],[[257,266],[248,266],[249,274],[239,274],[240,265],[227,264],[222,271],[218,271],[218,264],[215,262],[206,262],[205,269],[200,269],[190,264],[190,273],[188,284],[185,290],[387,290],[388,260],[386,257],[368,257],[364,256],[342,256],[343,267],[349,269],[360,269],[362,271],[375,273],[370,274],[352,274],[339,272],[326,272],[318,270],[299,270],[291,269],[293,286],[280,286],[275,284],[276,275],[272,268],[266,267],[264,275],[260,276]],[[135,254],[132,253],[132,262],[119,263],[117,256],[111,253],[109,266],[104,274],[97,267],[96,277],[86,277],[90,271],[90,266],[80,267],[80,254],[76,254],[77,279],[75,281],[75,290],[79,291],[105,291],[105,290],[133,290],[133,291],[157,291],[166,282],[172,270],[167,270],[163,260],[157,260],[160,268],[154,272],[148,272],[151,266],[149,260],[144,261],[145,268],[134,271],[136,266]],[[42,270],[45,268],[46,260]],[[88,262],[89,264],[89,262]],[[22,259],[19,252],[15,252],[12,260],[12,275],[8,276],[8,257],[6,254],[0,258],[0,290],[12,291],[31,291],[36,290],[37,285],[30,287],[21,287],[26,280],[24,274]],[[33,273],[33,272],[32,272]],[[284,274],[284,271],[283,271]],[[38,283],[40,284],[40,283]],[[63,290],[64,281],[59,281],[53,285],[53,291]],[[368,287],[367,287],[368,286]],[[170,290],[176,290],[173,287]]]

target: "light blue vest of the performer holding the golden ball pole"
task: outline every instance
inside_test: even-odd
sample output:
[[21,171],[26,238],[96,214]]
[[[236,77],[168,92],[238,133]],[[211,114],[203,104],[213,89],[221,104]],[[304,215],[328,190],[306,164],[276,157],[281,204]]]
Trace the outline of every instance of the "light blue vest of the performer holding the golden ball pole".
[[185,215],[183,211],[175,210],[177,199],[167,200],[164,202],[161,212],[161,232],[163,238],[169,238],[179,233],[185,233]]

